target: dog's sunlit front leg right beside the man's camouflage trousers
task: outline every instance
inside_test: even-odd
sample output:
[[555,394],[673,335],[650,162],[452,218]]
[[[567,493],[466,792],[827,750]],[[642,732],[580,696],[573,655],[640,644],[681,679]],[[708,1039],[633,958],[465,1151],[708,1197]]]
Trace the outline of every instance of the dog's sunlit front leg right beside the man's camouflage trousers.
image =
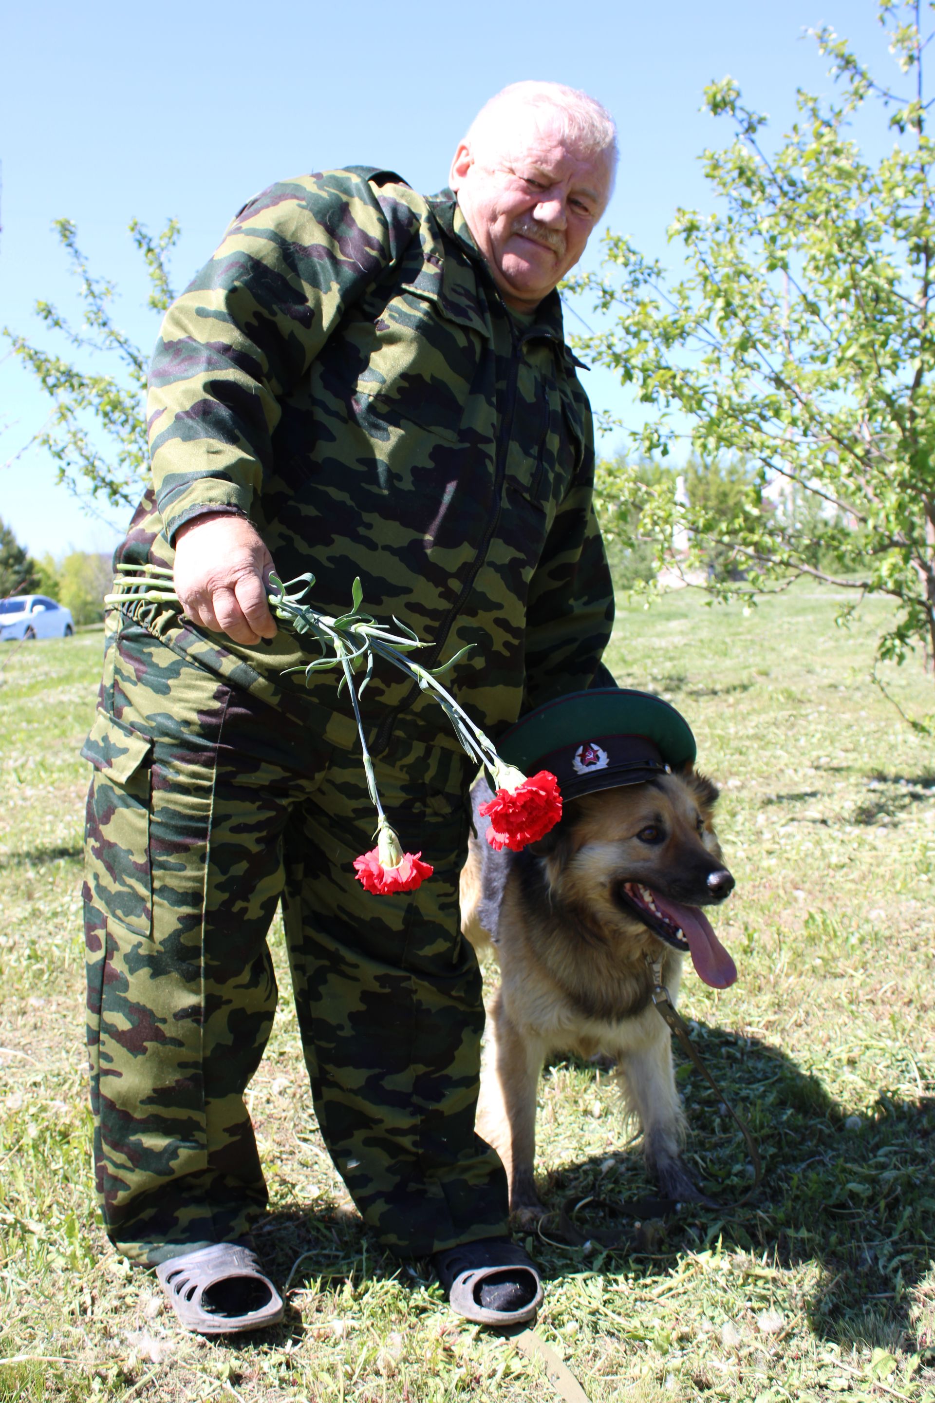
[[481,1073],[477,1129],[503,1160],[510,1186],[510,1209],[528,1218],[544,1212],[535,1183],[535,1089],[545,1061],[544,1042],[520,1033],[503,1000],[496,996],[486,1020],[486,1048]]

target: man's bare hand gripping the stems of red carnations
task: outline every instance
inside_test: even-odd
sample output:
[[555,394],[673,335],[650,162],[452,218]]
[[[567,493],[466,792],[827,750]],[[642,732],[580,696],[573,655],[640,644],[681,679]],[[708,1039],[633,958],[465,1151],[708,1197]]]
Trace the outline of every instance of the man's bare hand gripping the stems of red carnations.
[[175,535],[175,593],[182,609],[192,623],[234,643],[275,637],[266,603],[271,570],[272,556],[244,516],[196,516]]

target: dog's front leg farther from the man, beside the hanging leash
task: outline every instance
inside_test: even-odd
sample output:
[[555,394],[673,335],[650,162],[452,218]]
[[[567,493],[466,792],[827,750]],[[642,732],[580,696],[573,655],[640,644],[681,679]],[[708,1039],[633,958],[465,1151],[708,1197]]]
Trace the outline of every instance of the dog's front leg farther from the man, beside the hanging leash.
[[681,1159],[685,1118],[676,1092],[669,1028],[655,1009],[638,1023],[641,1037],[622,1051],[617,1076],[624,1100],[643,1128],[646,1167],[667,1198],[709,1202],[695,1188]]

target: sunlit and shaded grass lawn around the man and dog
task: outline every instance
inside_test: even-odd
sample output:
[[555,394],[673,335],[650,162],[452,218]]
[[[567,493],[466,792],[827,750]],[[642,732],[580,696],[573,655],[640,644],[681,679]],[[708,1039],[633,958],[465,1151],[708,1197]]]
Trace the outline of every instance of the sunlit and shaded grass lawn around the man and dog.
[[[805,589],[749,616],[687,592],[620,610],[613,669],[684,711],[722,786],[737,891],[719,933],[740,979],[718,993],[690,974],[681,1009],[760,1139],[765,1183],[639,1251],[530,1242],[540,1331],[593,1403],[935,1400],[935,746],[869,680],[883,606],[849,631],[834,613]],[[231,1344],[179,1334],[154,1278],[108,1247],[90,1200],[79,934],[77,748],[100,645],[24,648],[0,687],[0,1403],[542,1403],[540,1364],[451,1319],[425,1271],[363,1233],[286,996],[248,1093],[272,1195],[258,1240],[290,1280],[283,1326]],[[906,710],[932,710],[920,666],[885,676]],[[678,1078],[688,1156],[730,1202],[749,1184],[743,1146],[698,1076]],[[548,1068],[551,1207],[645,1191],[629,1136],[606,1070]]]

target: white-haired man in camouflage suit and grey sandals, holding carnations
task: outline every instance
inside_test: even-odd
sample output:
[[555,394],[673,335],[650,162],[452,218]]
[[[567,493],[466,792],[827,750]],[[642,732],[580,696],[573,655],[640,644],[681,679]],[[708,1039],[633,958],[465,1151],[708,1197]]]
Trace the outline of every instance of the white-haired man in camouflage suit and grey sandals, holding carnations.
[[[460,934],[471,765],[430,697],[362,699],[384,807],[435,875],[371,895],[356,732],[301,666],[265,581],[367,607],[430,644],[496,737],[601,673],[613,598],[592,511],[587,398],[555,286],[608,199],[614,128],[519,83],[425,199],[388,171],[271,187],[170,307],[150,375],[153,488],[122,563],[174,567],[182,613],[109,617],[88,797],[86,930],[104,1221],[185,1326],[282,1315],[248,1232],[266,1188],[244,1090],[272,1026],[282,899],[318,1124],[364,1222],[432,1257],[456,1309],[541,1299],[474,1132],[481,978]],[[289,672],[290,668],[300,671]]]

